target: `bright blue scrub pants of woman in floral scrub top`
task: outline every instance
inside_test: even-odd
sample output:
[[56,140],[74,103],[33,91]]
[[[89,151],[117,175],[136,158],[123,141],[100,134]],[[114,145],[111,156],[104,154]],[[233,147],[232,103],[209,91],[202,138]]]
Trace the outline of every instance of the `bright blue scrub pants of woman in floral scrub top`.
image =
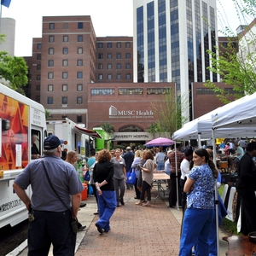
[[212,226],[214,209],[187,208],[183,218],[183,230],[179,256],[190,256],[195,246],[195,256],[209,255],[208,236]]

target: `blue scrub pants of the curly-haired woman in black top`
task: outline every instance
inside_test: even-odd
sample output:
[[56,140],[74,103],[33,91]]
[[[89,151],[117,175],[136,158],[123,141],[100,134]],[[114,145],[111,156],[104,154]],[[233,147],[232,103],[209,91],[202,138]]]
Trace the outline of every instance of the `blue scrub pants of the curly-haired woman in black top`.
[[110,230],[109,219],[116,208],[115,191],[103,190],[102,195],[97,195],[99,207],[99,220],[96,222],[104,231]]

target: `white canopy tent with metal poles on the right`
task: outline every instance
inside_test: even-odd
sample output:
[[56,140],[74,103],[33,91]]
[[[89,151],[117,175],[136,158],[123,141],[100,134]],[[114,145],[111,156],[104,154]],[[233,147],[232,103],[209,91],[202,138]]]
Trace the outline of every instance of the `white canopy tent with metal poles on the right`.
[[[244,96],[241,99],[230,102],[224,107],[217,108],[198,119],[185,124],[182,129],[174,132],[173,140],[198,139],[201,147],[201,138],[212,138],[213,148],[216,148],[216,137],[246,137],[256,135],[256,93],[252,96]],[[216,164],[216,150],[213,150]],[[217,186],[215,198],[217,197]],[[218,216],[218,201],[216,203],[216,215]],[[216,218],[218,234],[218,218]],[[218,241],[218,237],[217,237]],[[217,247],[219,247],[217,242]],[[218,248],[217,248],[218,251]]]

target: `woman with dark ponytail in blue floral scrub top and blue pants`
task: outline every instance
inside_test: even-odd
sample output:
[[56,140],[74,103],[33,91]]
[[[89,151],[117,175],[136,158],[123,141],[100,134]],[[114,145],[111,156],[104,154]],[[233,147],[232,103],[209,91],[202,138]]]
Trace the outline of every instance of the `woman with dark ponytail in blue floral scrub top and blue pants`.
[[208,235],[214,214],[214,187],[218,177],[206,149],[199,148],[193,153],[195,167],[192,168],[183,191],[187,193],[187,209],[183,218],[183,230],[179,255],[190,256],[195,246],[195,255],[208,255]]

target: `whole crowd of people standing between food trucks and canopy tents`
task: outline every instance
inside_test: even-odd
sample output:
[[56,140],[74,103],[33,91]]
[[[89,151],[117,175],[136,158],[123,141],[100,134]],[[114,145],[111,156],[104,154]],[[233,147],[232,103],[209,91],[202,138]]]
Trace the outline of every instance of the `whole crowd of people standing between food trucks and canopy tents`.
[[[33,143],[32,148],[38,153]],[[236,190],[241,197],[241,233],[247,236],[256,230],[256,142],[230,140],[216,149],[236,155],[233,164],[238,173]],[[76,220],[78,230],[85,228],[77,219],[84,189],[76,170],[78,154],[71,150],[66,160],[61,159],[61,141],[54,135],[44,140],[43,153],[40,158],[35,154],[35,160],[16,177],[13,185],[31,217],[29,255],[47,253],[51,243],[55,252],[73,255],[76,233],[70,223]],[[127,147],[125,152],[120,148],[96,152],[92,148],[87,165],[89,185],[96,197],[95,214],[99,215],[96,229],[100,234],[110,230],[110,218],[116,207],[125,206],[126,189],[134,189],[137,206],[151,207],[154,172],[166,172],[170,176],[166,183],[169,207],[183,208],[179,255],[191,255],[192,250],[195,255],[217,255],[216,218],[221,224],[227,212],[220,195],[214,192],[220,186],[221,175],[213,162],[212,149],[182,148],[180,143],[172,148]],[[128,172],[135,172],[134,183],[127,182]],[[32,186],[31,198],[26,195],[28,185]]]

